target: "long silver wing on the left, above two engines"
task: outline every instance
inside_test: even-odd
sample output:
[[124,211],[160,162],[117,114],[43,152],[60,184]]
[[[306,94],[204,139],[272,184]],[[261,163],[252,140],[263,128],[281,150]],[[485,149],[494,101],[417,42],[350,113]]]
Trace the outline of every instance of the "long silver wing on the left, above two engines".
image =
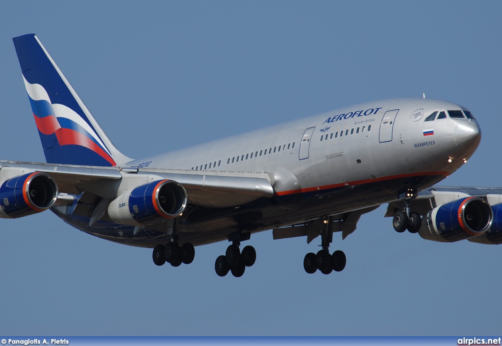
[[237,206],[272,197],[274,189],[267,173],[189,171],[172,169],[131,169],[117,167],[78,166],[20,161],[0,161],[0,168],[15,167],[46,173],[57,183],[59,192],[80,194],[90,191],[103,198],[113,197],[110,191],[121,180],[132,175],[154,175],[175,180],[188,194],[188,202],[204,207]]

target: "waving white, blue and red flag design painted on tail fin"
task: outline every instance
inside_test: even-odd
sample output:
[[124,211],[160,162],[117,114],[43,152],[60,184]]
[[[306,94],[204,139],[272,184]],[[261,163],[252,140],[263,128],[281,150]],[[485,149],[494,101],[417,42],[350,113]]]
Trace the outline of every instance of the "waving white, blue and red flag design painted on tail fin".
[[[86,148],[99,155],[110,166],[116,164],[95,131],[73,109],[64,104],[51,103],[49,95],[42,85],[30,84],[24,76],[23,79],[44,150],[56,145],[54,140],[44,138],[44,136],[55,136],[55,141],[60,147],[79,146],[83,150]],[[51,142],[52,147],[49,147]],[[85,152],[75,150],[72,150],[69,155],[77,153],[85,155]],[[59,160],[56,159],[56,161]]]

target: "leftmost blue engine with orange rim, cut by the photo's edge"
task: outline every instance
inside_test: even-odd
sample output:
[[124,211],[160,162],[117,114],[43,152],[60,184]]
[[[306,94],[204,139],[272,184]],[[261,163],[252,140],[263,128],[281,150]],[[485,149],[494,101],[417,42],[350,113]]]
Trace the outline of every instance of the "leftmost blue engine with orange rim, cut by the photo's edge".
[[58,196],[54,179],[33,172],[5,180],[0,187],[0,217],[16,218],[49,209]]

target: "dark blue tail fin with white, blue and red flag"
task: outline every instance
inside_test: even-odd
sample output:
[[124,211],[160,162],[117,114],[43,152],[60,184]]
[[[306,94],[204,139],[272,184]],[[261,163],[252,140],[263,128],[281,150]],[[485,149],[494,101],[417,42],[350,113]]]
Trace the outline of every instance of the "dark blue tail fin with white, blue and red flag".
[[37,36],[13,41],[46,161],[87,166],[130,161],[111,143]]

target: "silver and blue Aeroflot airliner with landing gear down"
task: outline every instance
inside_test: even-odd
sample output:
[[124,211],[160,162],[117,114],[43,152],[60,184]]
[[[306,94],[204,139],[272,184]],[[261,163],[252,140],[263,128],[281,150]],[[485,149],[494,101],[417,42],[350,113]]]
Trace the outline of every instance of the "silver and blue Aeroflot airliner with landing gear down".
[[274,239],[320,236],[307,273],[343,270],[333,233],[344,239],[382,203],[398,232],[502,243],[501,190],[431,187],[481,139],[458,104],[372,101],[136,160],[111,143],[37,36],[13,40],[47,163],[0,162],[1,217],[50,209],[88,234],[153,249],[158,266],[190,264],[194,246],[228,241],[215,271],[236,277],[256,260],[240,243],[266,229]]

